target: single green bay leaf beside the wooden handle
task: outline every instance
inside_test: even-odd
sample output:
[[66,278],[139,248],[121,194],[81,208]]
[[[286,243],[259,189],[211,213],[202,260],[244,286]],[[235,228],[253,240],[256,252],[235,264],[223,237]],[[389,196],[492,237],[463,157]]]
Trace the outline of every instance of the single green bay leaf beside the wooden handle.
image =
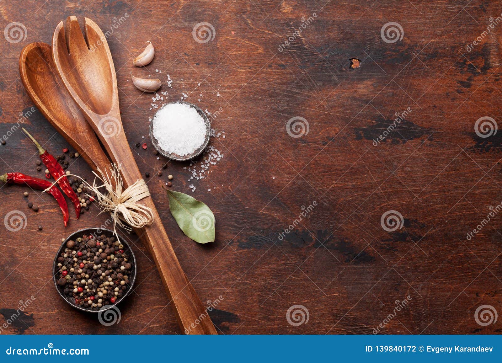
[[168,190],[167,196],[171,214],[183,233],[201,244],[214,241],[216,220],[207,205],[173,190]]

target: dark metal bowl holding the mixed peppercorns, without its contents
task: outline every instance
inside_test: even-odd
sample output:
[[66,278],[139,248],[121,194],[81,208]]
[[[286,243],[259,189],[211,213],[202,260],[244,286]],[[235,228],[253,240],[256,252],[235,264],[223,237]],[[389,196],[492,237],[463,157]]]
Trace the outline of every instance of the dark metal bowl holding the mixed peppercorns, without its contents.
[[137,272],[137,269],[136,269],[136,257],[134,256],[134,252],[131,249],[131,246],[129,246],[129,244],[127,243],[127,241],[124,238],[122,238],[121,236],[119,236],[121,244],[124,245],[124,250],[128,251],[128,253],[129,253],[129,255],[131,256],[131,259],[132,259],[132,261],[131,261],[132,262],[131,263],[132,268],[131,268],[131,273],[129,274],[131,282],[128,284],[129,285],[128,291],[126,291],[126,293],[120,299],[118,299],[114,304],[110,304],[110,306],[108,308],[106,308],[106,309],[103,309],[103,307],[101,307],[100,310],[91,310],[91,309],[82,308],[82,307],[77,306],[74,303],[70,302],[65,297],[65,295],[63,294],[63,291],[62,291],[63,289],[61,288],[61,286],[58,285],[58,283],[56,281],[57,280],[56,279],[56,274],[59,271],[58,257],[64,251],[64,249],[66,248],[66,243],[70,239],[75,240],[78,237],[82,237],[82,235],[84,235],[84,234],[89,235],[89,234],[92,234],[94,232],[97,232],[98,230],[100,231],[99,235],[104,234],[107,237],[111,237],[113,235],[113,231],[112,230],[110,230],[110,229],[102,229],[102,228],[85,228],[85,229],[80,229],[80,230],[77,230],[77,231],[73,232],[61,244],[61,247],[59,248],[59,250],[58,250],[58,252],[56,254],[56,257],[54,258],[54,264],[53,264],[53,268],[52,268],[52,277],[53,277],[53,280],[54,280],[54,286],[56,287],[56,291],[58,292],[59,296],[61,296],[64,301],[66,301],[69,305],[71,305],[75,309],[82,310],[82,311],[89,312],[89,313],[98,313],[98,312],[103,312],[103,311],[109,310],[113,306],[115,306],[118,303],[122,302],[126,297],[128,297],[128,295],[133,291],[133,286],[134,286],[134,283],[136,281],[136,272]]

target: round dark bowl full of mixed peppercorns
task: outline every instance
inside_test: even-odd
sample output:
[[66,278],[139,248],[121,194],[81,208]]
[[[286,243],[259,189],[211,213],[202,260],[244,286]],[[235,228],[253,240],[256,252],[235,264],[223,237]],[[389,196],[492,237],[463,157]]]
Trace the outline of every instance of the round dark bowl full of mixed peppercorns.
[[123,301],[136,280],[136,258],[113,231],[86,228],[63,241],[54,259],[54,284],[76,309],[99,312]]

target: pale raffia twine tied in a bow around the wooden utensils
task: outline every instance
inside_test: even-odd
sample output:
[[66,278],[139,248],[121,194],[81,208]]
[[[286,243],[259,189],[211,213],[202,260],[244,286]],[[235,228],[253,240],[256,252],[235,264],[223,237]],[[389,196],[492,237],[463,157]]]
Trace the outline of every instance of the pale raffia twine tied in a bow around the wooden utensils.
[[[94,193],[96,193],[97,202],[101,213],[109,212],[113,220],[113,233],[118,238],[116,225],[130,232],[134,228],[142,228],[154,221],[154,213],[150,207],[138,203],[141,199],[150,196],[150,191],[144,179],[138,179],[135,183],[122,191],[122,178],[120,176],[120,165],[113,164],[110,172],[97,169],[98,174],[94,171],[92,174],[96,176],[92,185],[83,180],[80,176],[76,176],[82,180],[82,183]],[[68,175],[64,175],[68,176]],[[60,177],[62,178],[63,175]],[[58,178],[53,185],[55,185]],[[96,179],[99,179],[102,184],[96,185]],[[53,186],[52,185],[52,186]],[[52,188],[52,186],[50,188]],[[115,187],[113,187],[115,186]],[[44,191],[49,190],[47,188]],[[104,190],[103,190],[104,188]],[[101,190],[100,190],[101,189]],[[87,194],[91,197],[91,195]]]

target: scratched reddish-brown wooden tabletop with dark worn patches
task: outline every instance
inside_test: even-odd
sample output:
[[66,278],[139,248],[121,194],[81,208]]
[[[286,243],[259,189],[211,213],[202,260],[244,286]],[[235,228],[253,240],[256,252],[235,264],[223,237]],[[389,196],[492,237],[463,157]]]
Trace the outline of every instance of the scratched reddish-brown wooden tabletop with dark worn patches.
[[[502,308],[502,132],[484,137],[475,124],[481,117],[491,117],[481,123],[492,127],[502,122],[501,6],[3,2],[0,28],[19,22],[24,29],[20,39],[7,31],[0,41],[0,134],[7,136],[1,170],[42,176],[36,150],[16,130],[20,123],[55,155],[68,146],[40,112],[28,112],[33,103],[19,79],[18,57],[31,42],[49,42],[67,16],[89,17],[109,32],[129,144],[140,170],[152,175],[148,185],[184,271],[203,302],[219,301],[210,312],[219,333],[498,333],[500,322],[484,324],[489,317],[482,311]],[[205,43],[193,34],[202,22],[213,28],[207,29],[214,39]],[[401,27],[396,42],[381,34],[390,22]],[[154,61],[132,66],[148,40]],[[207,178],[188,181],[189,163],[177,162],[157,176],[167,160],[157,160],[148,140],[155,109],[128,81],[131,70],[161,78],[165,101],[184,92],[212,113],[221,135],[211,145],[224,156]],[[373,142],[404,111],[385,140]],[[299,126],[308,125],[308,133],[291,137],[298,136],[294,123],[300,134]],[[147,150],[135,146],[143,142]],[[70,164],[72,173],[91,177],[83,160]],[[214,243],[198,245],[176,225],[162,189],[169,174],[173,190],[213,210]],[[134,235],[128,239],[138,279],[119,305],[118,324],[103,326],[62,301],[51,279],[61,238],[99,226],[106,216],[91,206],[65,228],[49,196],[30,191],[24,198],[25,190],[0,189],[0,217],[13,210],[27,216],[19,231],[2,226],[0,323],[34,299],[2,332],[181,333],[155,265]],[[29,201],[40,206],[38,213]],[[398,229],[383,227],[388,211],[398,216]],[[490,307],[479,311],[482,305]]]

